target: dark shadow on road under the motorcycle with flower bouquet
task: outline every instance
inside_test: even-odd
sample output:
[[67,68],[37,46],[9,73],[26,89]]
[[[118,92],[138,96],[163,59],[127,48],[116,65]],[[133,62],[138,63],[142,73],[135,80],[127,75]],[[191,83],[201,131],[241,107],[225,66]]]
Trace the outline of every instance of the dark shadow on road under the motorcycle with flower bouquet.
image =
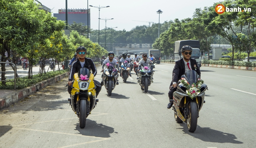
[[237,138],[233,134],[214,130],[209,127],[200,127],[199,125],[197,125],[196,131],[194,133],[191,133],[188,131],[186,123],[180,123],[180,126],[182,126],[183,128],[178,128],[178,129],[182,129],[185,134],[188,134],[190,136],[193,136],[205,142],[234,143],[234,144],[243,143],[241,141],[235,140]]

